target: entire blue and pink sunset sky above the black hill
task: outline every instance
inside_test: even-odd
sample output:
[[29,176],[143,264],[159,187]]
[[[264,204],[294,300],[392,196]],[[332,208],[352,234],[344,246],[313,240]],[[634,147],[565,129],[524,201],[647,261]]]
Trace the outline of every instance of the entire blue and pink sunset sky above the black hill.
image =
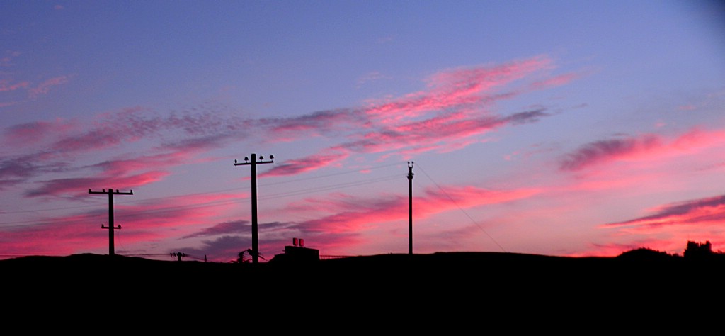
[[[725,250],[721,1],[0,1],[0,258]],[[412,166],[413,180],[407,175]],[[133,192],[133,194],[130,194]],[[128,194],[126,194],[128,193]]]

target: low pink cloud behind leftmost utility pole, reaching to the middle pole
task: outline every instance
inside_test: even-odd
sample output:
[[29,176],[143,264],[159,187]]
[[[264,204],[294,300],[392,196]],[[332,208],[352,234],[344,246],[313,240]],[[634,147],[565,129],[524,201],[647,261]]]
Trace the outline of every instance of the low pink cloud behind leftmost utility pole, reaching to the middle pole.
[[[143,194],[117,195],[114,197],[114,224],[121,229],[116,235],[116,246],[132,247],[136,243],[193,234],[198,232],[200,224],[215,221],[220,212],[239,206],[239,199],[248,196],[196,194],[133,202],[136,197],[144,197]],[[39,219],[38,224],[20,226],[19,229],[6,228],[0,237],[3,252],[42,255],[104,250],[108,246],[108,231],[101,229],[101,224],[108,224],[108,210],[104,203],[107,196],[86,194],[86,197],[100,198],[99,207],[84,213]],[[49,229],[49,226],[52,227]],[[202,232],[210,234],[218,229]],[[247,234],[246,231],[244,233]]]

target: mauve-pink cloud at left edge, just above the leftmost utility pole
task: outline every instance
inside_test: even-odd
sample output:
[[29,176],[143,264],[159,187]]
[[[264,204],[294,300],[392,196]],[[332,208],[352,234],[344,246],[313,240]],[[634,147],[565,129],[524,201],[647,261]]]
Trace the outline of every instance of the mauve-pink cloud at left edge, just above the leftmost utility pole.
[[[5,130],[3,138],[7,144],[17,144],[12,147],[13,149],[27,146],[41,147],[43,142],[47,142],[48,149],[36,149],[37,152],[22,156],[0,157],[0,180],[6,179],[2,185],[17,184],[41,173],[67,171],[72,168],[72,160],[77,155],[83,155],[91,149],[122,147],[130,142],[160,136],[167,130],[184,128],[196,133],[199,132],[199,128],[204,128],[203,122],[196,118],[183,119],[188,121],[187,123],[175,117],[157,118],[146,114],[138,108],[109,113],[106,118],[99,118],[90,129],[75,120],[38,121],[11,126]],[[210,131],[223,128],[219,126],[215,129],[214,122],[207,121],[212,123]],[[78,132],[78,129],[86,131]],[[108,181],[107,183],[119,188],[138,187],[162,179],[174,165],[189,163],[194,155],[221,147],[228,139],[230,138],[227,134],[218,136],[199,134],[196,137],[151,147],[152,151],[159,152],[158,154],[128,157],[123,160],[106,160],[96,165],[76,167],[77,170],[101,168],[101,171],[95,176],[84,176],[80,179],[65,178],[34,182],[41,184],[42,187],[29,189],[25,194],[30,197],[65,192],[77,194],[80,192],[79,189],[75,192],[72,190],[80,184],[86,184],[86,187],[83,187],[86,189],[96,186],[98,181]],[[28,149],[23,148],[22,152],[28,153]],[[28,158],[32,160],[27,160]],[[66,161],[50,161],[58,158]],[[165,171],[149,172],[149,167],[164,167]],[[107,185],[98,187],[107,187]]]

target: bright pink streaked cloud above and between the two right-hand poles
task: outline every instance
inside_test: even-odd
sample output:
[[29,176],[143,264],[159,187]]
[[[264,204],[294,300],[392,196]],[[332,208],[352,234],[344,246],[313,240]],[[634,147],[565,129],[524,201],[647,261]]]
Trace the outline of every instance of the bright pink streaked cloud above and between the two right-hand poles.
[[[298,134],[346,136],[349,141],[329,147],[343,152],[445,150],[451,143],[476,143],[476,139],[470,138],[494,128],[534,122],[547,116],[541,109],[497,116],[485,107],[519,94],[517,91],[494,92],[494,89],[550,67],[551,60],[534,57],[504,65],[447,70],[431,76],[428,89],[424,91],[386,99],[384,102],[370,102],[363,109],[329,110],[297,118],[263,119],[260,125],[281,133],[278,138],[286,141],[294,139]],[[558,80],[558,83],[564,82],[563,79]],[[275,171],[285,171],[287,168],[291,167],[281,166]],[[303,171],[289,170],[287,173]]]

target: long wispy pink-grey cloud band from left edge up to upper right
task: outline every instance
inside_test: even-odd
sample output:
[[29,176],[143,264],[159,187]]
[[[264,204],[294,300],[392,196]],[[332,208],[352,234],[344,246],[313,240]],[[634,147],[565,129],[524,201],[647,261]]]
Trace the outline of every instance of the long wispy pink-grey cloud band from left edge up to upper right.
[[[123,150],[135,142],[156,144],[146,146],[146,152],[130,158],[99,157],[101,163],[79,167],[101,168],[100,173],[92,176],[36,181],[34,185],[40,187],[25,192],[29,197],[70,192],[80,185],[94,186],[100,181],[117,187],[160,181],[174,165],[182,163],[182,158],[188,160],[193,155],[247,139],[249,135],[244,130],[250,127],[275,132],[279,136],[273,141],[310,136],[323,136],[329,140],[329,147],[313,155],[280,161],[260,174],[294,175],[341,163],[354,153],[386,156],[393,152],[444,152],[481,142],[480,136],[496,128],[536,122],[549,114],[539,109],[495,115],[489,107],[500,99],[510,99],[525,91],[498,92],[494,89],[503,89],[531,73],[551,67],[552,61],[546,57],[534,57],[503,65],[446,70],[432,75],[424,91],[371,102],[365,107],[311,112],[294,118],[245,119],[224,115],[215,112],[215,107],[205,106],[159,115],[132,107],[105,112],[92,120],[44,120],[11,126],[3,137],[24,147],[24,155],[35,148],[32,155],[36,160],[44,157],[46,165],[52,157],[62,157],[63,162],[70,163],[91,150]],[[67,76],[51,78],[33,90],[41,94],[68,79]],[[12,159],[12,156],[0,158],[0,162],[5,163],[5,181],[30,179],[31,173],[41,173],[28,169],[28,173],[19,176],[21,167],[7,163]],[[131,165],[135,167],[130,169]],[[144,165],[165,168],[144,170]]]

